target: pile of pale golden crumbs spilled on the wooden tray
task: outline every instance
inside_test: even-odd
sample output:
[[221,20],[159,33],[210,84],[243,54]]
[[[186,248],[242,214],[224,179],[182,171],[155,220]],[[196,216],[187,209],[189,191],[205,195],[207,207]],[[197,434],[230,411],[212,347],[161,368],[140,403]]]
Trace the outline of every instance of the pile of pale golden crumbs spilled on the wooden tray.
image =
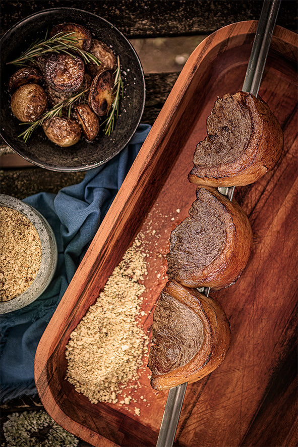
[[136,323],[145,291],[145,256],[136,238],[66,347],[66,378],[94,404],[116,403],[121,389],[138,379],[148,352],[149,338]]

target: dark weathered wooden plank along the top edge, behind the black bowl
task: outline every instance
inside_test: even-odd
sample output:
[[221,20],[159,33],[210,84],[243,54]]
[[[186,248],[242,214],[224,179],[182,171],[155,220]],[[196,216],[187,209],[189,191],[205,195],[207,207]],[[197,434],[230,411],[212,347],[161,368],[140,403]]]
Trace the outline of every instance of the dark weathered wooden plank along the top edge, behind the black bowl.
[[[1,33],[12,20],[48,8],[72,7],[97,14],[126,36],[155,37],[209,34],[227,24],[259,20],[263,1],[246,0],[5,0],[2,2]],[[297,2],[283,0],[277,24],[297,29]]]

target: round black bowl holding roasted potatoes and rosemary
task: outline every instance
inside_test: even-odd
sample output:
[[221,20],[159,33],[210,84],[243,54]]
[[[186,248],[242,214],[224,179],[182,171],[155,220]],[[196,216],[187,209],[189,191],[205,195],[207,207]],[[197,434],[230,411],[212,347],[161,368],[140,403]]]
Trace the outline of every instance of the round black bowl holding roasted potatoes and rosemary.
[[[27,143],[18,138],[26,125],[12,115],[8,80],[19,67],[7,65],[53,25],[74,22],[88,28],[91,34],[105,42],[120,56],[124,98],[114,131],[108,137],[103,132],[93,142],[84,137],[71,147],[61,148],[44,135],[41,128],[34,131]],[[51,171],[85,171],[100,166],[119,153],[135,133],[144,111],[145,79],[134,48],[127,38],[105,19],[74,8],[54,8],[33,14],[14,25],[1,39],[1,136],[19,155]]]

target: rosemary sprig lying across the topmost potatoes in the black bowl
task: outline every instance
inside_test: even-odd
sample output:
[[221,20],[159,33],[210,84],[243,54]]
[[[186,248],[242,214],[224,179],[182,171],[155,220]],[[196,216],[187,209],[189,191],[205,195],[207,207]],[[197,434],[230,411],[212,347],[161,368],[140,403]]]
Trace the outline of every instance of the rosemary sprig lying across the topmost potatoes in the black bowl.
[[45,36],[44,39],[36,40],[20,55],[19,58],[8,62],[8,64],[17,66],[27,65],[28,62],[34,64],[36,58],[51,52],[64,52],[73,56],[70,50],[74,50],[81,55],[87,64],[89,62],[94,62],[94,64],[99,66],[101,62],[93,54],[78,48],[75,45],[76,39],[72,36],[72,34],[74,34],[74,31],[68,33],[59,32],[48,39],[47,36]]

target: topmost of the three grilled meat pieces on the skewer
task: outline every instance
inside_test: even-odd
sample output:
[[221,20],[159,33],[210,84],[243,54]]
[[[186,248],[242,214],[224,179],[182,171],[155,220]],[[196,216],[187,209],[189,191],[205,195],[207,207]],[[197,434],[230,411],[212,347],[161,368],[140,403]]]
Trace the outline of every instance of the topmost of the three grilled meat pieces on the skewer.
[[198,143],[189,181],[206,186],[244,186],[276,165],[283,147],[281,127],[269,106],[251,93],[218,98]]

